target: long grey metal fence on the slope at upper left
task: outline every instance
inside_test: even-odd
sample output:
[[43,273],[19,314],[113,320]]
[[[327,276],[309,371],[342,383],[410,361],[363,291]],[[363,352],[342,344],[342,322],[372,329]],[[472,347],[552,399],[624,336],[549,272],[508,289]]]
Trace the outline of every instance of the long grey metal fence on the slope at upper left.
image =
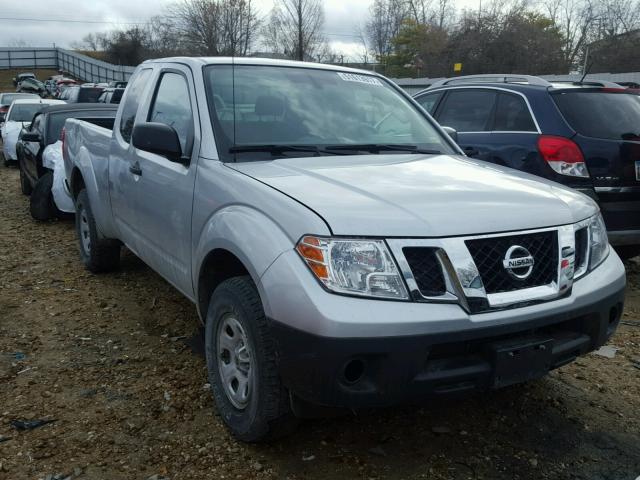
[[127,81],[135,70],[62,48],[0,48],[0,70],[15,68],[62,70],[85,82]]

